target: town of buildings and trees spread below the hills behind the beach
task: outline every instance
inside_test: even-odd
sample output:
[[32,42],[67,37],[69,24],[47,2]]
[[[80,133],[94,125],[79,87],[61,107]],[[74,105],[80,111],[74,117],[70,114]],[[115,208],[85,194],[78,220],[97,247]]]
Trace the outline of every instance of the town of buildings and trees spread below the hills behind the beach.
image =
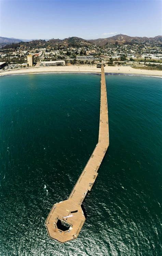
[[[101,60],[108,65],[162,64],[161,43],[132,40],[129,44],[99,46],[87,41],[33,40],[17,46],[0,49],[0,62],[6,62],[5,70],[24,66],[56,66],[65,64],[97,64]],[[35,62],[35,63],[34,63]]]

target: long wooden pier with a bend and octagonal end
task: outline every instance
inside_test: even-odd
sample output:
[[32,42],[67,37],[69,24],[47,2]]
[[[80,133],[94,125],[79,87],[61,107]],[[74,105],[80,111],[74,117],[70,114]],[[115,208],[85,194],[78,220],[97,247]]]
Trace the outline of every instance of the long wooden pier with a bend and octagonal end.
[[85,221],[82,202],[91,190],[109,146],[108,105],[104,66],[101,66],[101,95],[98,143],[69,198],[53,205],[45,226],[49,236],[64,243],[77,238]]

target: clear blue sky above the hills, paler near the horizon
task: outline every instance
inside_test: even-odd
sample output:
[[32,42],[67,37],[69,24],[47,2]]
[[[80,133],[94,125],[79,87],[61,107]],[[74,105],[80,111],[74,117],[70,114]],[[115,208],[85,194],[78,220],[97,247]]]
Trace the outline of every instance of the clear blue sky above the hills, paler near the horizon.
[[0,36],[161,35],[161,0],[0,0]]

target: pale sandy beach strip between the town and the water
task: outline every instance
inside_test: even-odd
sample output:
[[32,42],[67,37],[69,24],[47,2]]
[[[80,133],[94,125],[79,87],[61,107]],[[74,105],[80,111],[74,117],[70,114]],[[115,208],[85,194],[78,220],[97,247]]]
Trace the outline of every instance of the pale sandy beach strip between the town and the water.
[[[16,74],[35,74],[35,73],[53,73],[53,72],[87,72],[100,73],[101,69],[96,68],[96,65],[70,65],[70,66],[50,66],[50,67],[32,67],[22,68],[9,71],[0,71],[1,75],[16,75]],[[161,76],[162,71],[159,70],[140,70],[133,69],[130,66],[105,66],[105,73],[123,73],[147,76]]]

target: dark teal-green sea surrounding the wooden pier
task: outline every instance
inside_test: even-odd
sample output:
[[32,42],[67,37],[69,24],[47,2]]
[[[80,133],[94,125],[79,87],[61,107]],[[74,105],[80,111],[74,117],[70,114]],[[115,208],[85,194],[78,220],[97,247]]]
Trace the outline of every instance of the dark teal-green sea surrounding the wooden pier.
[[162,255],[161,81],[106,76],[110,146],[78,238],[59,244],[44,221],[97,143],[100,76],[0,77],[2,255]]

